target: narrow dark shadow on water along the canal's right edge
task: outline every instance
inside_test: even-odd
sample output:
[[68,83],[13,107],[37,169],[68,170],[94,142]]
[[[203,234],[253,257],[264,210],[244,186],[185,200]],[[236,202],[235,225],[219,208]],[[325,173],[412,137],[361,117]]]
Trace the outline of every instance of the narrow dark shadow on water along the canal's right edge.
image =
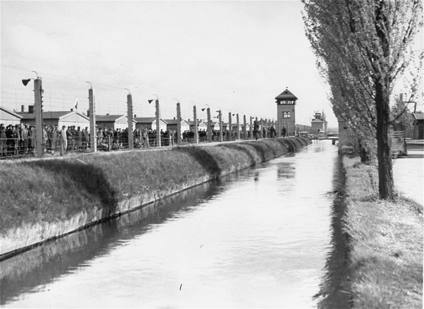
[[342,171],[342,157],[339,155],[336,160],[333,177],[334,199],[330,251],[326,258],[326,274],[320,284],[320,291],[314,296],[318,299],[318,308],[351,308],[348,281],[349,235],[343,229],[343,215],[346,212],[345,179]]

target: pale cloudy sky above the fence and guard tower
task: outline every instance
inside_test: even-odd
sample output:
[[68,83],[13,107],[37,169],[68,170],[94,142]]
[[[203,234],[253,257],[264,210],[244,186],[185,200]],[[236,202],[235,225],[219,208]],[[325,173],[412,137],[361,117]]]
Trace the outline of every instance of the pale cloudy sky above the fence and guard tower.
[[337,120],[329,87],[315,67],[304,34],[300,1],[1,1],[0,104],[20,111],[33,104],[42,77],[44,110],[88,109],[91,82],[96,114],[161,118],[212,117],[219,109],[276,119],[275,97],[296,97],[296,122],[310,125],[324,110]]

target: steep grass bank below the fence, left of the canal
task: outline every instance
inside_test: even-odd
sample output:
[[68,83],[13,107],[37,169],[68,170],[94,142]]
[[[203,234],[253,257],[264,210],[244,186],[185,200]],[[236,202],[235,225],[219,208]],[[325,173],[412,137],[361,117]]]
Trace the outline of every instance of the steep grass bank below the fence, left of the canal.
[[0,241],[6,253],[123,214],[310,143],[262,139],[171,150],[0,162]]

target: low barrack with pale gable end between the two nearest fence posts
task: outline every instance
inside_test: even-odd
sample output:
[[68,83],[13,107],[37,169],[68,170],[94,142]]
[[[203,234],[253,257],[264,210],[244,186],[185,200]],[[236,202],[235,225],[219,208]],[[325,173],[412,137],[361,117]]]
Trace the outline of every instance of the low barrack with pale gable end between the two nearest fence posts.
[[[22,119],[21,123],[28,125],[35,125],[34,106],[28,106],[28,111],[18,112]],[[88,127],[90,129],[90,119],[86,115],[80,114],[78,111],[43,111],[43,124],[57,125],[61,128],[63,125],[81,127],[81,129]]]

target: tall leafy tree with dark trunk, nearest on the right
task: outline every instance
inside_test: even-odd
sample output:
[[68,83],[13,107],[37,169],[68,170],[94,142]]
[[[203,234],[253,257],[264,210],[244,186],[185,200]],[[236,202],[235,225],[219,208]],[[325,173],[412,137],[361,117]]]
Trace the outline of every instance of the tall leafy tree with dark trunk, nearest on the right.
[[375,129],[379,196],[392,199],[389,98],[415,57],[422,2],[312,0],[304,6],[306,35],[331,87],[335,114],[364,131]]

